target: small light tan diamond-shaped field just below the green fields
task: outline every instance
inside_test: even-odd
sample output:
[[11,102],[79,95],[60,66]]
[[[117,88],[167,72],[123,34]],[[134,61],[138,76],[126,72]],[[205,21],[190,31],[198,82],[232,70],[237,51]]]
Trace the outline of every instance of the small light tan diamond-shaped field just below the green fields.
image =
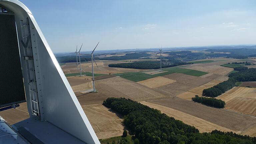
[[176,82],[176,81],[168,78],[164,78],[164,77],[154,77],[151,79],[139,81],[138,83],[148,86],[150,88],[155,88],[155,87],[164,86],[173,82]]

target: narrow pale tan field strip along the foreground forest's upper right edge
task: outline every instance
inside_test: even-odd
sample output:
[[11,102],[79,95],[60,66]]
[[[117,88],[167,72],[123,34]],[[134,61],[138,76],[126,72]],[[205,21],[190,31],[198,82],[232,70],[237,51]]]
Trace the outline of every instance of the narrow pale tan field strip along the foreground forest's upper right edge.
[[[217,124],[211,123],[209,121],[203,120],[201,118],[195,117],[193,115],[189,115],[187,113],[169,108],[169,107],[165,107],[165,106],[161,106],[158,104],[153,104],[153,103],[149,103],[149,102],[140,102],[141,104],[147,105],[151,108],[154,109],[158,109],[160,110],[162,113],[165,113],[166,115],[170,116],[170,117],[174,117],[177,120],[181,120],[183,121],[185,124],[188,125],[192,125],[194,127],[196,127],[200,132],[211,132],[215,129],[220,130],[220,131],[225,131],[225,132],[229,132],[232,131],[228,128],[219,126]],[[236,132],[236,131],[233,131]]]

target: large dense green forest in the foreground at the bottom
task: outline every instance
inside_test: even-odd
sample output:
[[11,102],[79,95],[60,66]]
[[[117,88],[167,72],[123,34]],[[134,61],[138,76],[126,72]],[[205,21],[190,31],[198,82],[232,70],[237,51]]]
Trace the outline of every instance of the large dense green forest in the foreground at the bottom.
[[108,98],[103,105],[123,115],[123,124],[141,144],[255,144],[256,137],[214,130],[199,133],[194,126],[126,98]]

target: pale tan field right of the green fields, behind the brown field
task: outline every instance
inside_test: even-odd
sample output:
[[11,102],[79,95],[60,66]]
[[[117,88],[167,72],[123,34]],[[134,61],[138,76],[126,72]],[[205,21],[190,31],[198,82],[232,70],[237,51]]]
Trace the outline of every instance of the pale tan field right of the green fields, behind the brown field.
[[188,69],[193,69],[193,70],[199,70],[203,72],[208,72],[208,73],[214,73],[214,74],[219,74],[219,75],[226,75],[233,71],[233,68],[228,68],[228,67],[223,67],[223,66],[218,66],[218,65],[212,65],[212,66],[190,66],[187,67]]

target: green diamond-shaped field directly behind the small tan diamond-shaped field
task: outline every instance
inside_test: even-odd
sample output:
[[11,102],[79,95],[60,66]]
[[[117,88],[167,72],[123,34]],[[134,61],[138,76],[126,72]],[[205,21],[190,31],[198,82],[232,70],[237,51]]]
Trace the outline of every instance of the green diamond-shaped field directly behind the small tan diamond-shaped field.
[[146,79],[150,79],[153,77],[157,77],[156,75],[150,75],[142,72],[127,72],[127,73],[119,73],[119,74],[113,74],[116,76],[120,76],[122,78],[128,79],[130,81],[139,82]]

